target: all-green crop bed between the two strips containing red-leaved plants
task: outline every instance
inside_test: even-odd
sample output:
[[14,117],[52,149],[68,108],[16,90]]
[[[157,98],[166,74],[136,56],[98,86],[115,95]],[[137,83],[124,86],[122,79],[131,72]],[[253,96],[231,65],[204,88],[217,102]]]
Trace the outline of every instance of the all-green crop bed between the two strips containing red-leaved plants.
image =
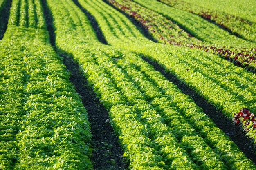
[[254,47],[255,43],[248,42],[227,31],[220,29],[215,24],[204,20],[198,15],[170,7],[166,4],[152,0],[133,0],[142,6],[164,15],[166,18],[176,22],[182,28],[186,29],[196,38],[215,44],[215,46],[232,46],[232,47]]

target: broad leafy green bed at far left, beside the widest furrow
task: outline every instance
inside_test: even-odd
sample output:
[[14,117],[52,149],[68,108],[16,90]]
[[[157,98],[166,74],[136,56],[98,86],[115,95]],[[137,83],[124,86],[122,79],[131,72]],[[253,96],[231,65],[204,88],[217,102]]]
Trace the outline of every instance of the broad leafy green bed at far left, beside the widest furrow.
[[0,169],[91,169],[87,112],[36,28],[45,28],[40,1],[13,0],[0,42]]

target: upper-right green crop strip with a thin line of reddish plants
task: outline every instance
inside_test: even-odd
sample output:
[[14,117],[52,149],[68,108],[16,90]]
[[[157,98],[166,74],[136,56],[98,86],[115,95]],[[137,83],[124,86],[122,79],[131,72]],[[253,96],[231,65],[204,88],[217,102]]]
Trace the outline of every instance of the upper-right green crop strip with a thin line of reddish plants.
[[241,18],[239,16],[227,14],[220,11],[210,10],[195,6],[193,3],[188,3],[178,0],[159,0],[174,8],[182,9],[200,15],[201,17],[216,22],[217,24],[230,30],[232,33],[240,35],[241,37],[255,42],[256,39],[256,23]]

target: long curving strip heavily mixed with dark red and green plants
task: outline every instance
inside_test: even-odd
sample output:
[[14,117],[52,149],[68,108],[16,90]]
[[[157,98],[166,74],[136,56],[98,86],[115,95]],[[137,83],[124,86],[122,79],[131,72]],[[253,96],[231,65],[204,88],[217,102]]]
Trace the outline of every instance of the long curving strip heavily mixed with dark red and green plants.
[[220,55],[239,66],[247,67],[248,70],[253,72],[256,70],[256,49],[254,48],[234,49],[225,46],[219,48],[211,46],[211,44],[207,42],[202,42],[192,37],[163,15],[142,7],[132,2],[132,0],[108,0],[108,2],[134,18],[148,30],[158,42],[203,49],[204,51]]

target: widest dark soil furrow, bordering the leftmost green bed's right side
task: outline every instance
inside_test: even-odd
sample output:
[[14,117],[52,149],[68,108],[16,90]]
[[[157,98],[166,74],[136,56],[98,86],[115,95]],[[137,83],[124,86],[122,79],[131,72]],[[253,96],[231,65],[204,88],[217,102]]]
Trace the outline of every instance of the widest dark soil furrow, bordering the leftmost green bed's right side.
[[[50,42],[56,51],[61,51],[60,49],[57,50],[58,47],[55,46],[52,14],[47,7],[46,0],[41,1],[47,21]],[[97,35],[98,34],[99,33],[97,32]],[[107,44],[106,40],[104,41],[103,35],[98,36],[102,37],[101,41],[104,44]],[[117,135],[115,135],[114,130],[110,126],[108,111],[103,107],[92,88],[86,82],[83,73],[79,69],[79,64],[74,60],[74,58],[63,51],[58,53],[58,55],[64,58],[64,64],[71,72],[70,81],[76,87],[76,91],[81,96],[83,105],[88,111],[88,120],[91,123],[92,133],[91,148],[93,149],[91,161],[93,163],[94,170],[128,169],[129,162],[122,157],[124,151],[121,149]]]

